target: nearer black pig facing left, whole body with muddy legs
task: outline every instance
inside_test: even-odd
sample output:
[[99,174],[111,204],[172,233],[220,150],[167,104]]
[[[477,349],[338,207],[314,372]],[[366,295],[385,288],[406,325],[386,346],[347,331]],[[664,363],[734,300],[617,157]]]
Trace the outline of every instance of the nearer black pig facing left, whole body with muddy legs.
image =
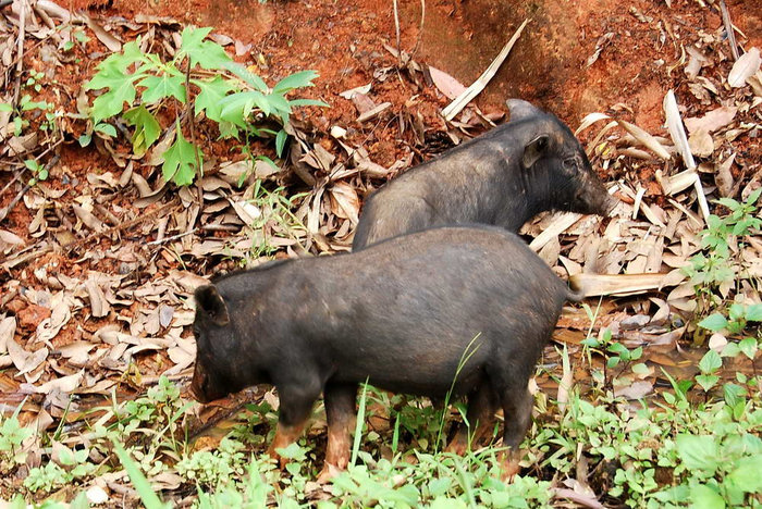
[[195,298],[192,393],[208,402],[273,384],[271,454],[300,435],[322,392],[330,475],[348,461],[358,383],[443,398],[454,381],[452,396],[468,396],[477,436],[502,406],[511,475],[531,413],[527,383],[564,301],[581,295],[515,234],[452,226],[236,272]]

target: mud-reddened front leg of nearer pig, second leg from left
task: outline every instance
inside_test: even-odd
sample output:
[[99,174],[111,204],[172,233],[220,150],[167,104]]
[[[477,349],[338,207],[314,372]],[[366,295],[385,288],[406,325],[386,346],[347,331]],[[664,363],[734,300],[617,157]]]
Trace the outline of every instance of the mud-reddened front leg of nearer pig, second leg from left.
[[318,476],[319,483],[346,469],[349,462],[352,430],[355,427],[357,384],[325,384],[325,418],[328,420],[328,448],[325,462]]

